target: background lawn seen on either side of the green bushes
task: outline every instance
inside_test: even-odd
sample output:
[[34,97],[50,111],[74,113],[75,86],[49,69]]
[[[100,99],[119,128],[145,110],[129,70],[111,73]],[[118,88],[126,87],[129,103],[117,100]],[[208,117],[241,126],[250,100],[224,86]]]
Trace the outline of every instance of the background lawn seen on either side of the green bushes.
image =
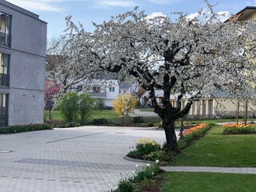
[[[59,110],[51,111],[52,119],[62,121],[64,120],[62,114]],[[49,120],[49,111],[45,110],[45,118],[46,121]],[[90,119],[94,118],[119,118],[118,114],[114,112],[114,110],[96,110],[94,114],[90,116]]]

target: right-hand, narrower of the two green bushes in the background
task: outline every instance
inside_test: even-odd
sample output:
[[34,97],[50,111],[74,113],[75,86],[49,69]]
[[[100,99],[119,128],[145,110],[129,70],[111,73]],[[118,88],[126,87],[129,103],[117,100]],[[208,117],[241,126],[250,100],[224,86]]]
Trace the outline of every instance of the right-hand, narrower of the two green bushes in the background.
[[90,117],[94,112],[95,101],[90,97],[90,94],[79,95],[79,112],[82,122]]

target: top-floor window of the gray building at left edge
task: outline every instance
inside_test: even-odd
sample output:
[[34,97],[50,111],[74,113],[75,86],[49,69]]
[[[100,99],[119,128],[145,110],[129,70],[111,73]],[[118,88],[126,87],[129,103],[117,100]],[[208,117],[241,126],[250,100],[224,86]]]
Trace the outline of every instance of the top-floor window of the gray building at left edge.
[[0,12],[0,45],[10,47],[10,23],[11,16]]

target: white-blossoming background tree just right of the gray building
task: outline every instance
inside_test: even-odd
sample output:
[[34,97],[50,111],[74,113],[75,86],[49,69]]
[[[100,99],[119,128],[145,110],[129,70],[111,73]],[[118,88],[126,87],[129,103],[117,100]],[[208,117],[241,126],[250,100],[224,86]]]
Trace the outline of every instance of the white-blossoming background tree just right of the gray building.
[[48,44],[46,78],[62,84],[61,93],[75,89],[74,86],[88,78],[86,65],[79,65],[79,63],[87,63],[88,58],[78,60],[78,58],[70,57],[70,49],[73,46],[68,39],[63,37],[53,38]]

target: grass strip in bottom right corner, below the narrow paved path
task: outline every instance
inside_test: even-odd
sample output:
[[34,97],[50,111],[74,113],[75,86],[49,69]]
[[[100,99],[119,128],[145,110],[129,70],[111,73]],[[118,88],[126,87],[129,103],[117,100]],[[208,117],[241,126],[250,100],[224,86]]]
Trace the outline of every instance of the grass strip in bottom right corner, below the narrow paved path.
[[246,192],[255,191],[256,174],[166,172],[162,192]]

